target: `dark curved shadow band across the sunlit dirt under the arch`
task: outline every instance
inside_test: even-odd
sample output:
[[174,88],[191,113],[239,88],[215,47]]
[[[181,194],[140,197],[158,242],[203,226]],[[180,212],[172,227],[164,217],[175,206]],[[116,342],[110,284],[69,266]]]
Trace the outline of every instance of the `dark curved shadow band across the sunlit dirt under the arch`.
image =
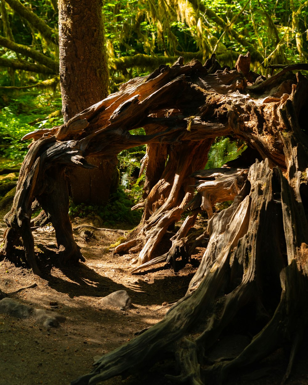
[[[47,253],[49,253],[48,256]],[[113,291],[126,290],[132,298],[132,303],[136,305],[173,303],[185,295],[194,274],[193,268],[191,273],[181,275],[181,271],[173,273],[171,269],[164,266],[130,275],[128,269],[119,267],[118,272],[128,280],[127,284],[123,284],[117,283],[116,278],[113,280],[104,276],[103,270],[99,273],[95,271],[91,266],[93,263],[56,267],[55,257],[55,253],[45,248],[43,254],[38,254],[38,259],[44,259],[42,278],[48,281],[50,288],[68,294],[70,298],[80,296],[99,298]],[[145,275],[150,276],[151,279],[145,280]]]

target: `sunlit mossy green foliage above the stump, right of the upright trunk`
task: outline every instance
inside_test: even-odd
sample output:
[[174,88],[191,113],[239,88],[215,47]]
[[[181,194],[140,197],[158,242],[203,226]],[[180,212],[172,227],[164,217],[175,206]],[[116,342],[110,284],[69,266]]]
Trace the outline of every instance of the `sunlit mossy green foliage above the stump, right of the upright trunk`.
[[[146,54],[153,61],[156,55],[205,60],[215,52],[218,60],[221,57],[223,64],[233,67],[238,54],[249,50],[254,70],[308,59],[307,14],[302,0],[109,0],[104,5],[111,59]],[[145,63],[114,64],[111,82],[121,84],[146,74]]]

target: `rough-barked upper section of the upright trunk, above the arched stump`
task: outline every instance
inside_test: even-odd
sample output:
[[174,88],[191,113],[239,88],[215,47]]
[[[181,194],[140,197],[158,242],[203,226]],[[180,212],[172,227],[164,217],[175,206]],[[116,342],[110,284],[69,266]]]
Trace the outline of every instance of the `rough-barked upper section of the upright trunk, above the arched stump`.
[[108,94],[100,0],[59,1],[62,113],[67,122]]

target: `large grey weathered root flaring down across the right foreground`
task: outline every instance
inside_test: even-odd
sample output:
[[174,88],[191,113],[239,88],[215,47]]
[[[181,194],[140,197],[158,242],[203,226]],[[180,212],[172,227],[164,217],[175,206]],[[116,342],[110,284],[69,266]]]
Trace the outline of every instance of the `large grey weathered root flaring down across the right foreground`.
[[[177,346],[182,373],[174,379],[194,385],[209,380],[213,384],[225,383],[230,370],[266,357],[283,341],[292,341],[295,336],[286,373],[289,375],[298,341],[293,331],[303,330],[308,312],[304,305],[307,298],[303,296],[307,281],[296,263],[300,253],[293,243],[296,258],[290,258],[286,242],[281,244],[281,237],[286,239],[288,234],[286,219],[283,226],[282,217],[291,214],[288,222],[296,223],[293,213],[284,213],[281,202],[277,202],[278,196],[281,201],[285,196],[290,197],[287,186],[279,169],[272,171],[267,161],[251,166],[248,181],[233,205],[214,215],[209,223],[208,248],[186,297],[169,310],[164,320],[104,355],[95,363],[93,372],[72,384],[95,384],[115,375],[132,373],[142,362],[154,363],[158,352],[170,348],[172,341],[181,341],[204,312],[208,321],[203,333],[195,340],[184,339]],[[285,252],[288,258],[283,258]],[[266,298],[268,290],[274,294],[270,300]],[[249,303],[254,304],[260,332],[235,359],[204,369],[206,351]]]

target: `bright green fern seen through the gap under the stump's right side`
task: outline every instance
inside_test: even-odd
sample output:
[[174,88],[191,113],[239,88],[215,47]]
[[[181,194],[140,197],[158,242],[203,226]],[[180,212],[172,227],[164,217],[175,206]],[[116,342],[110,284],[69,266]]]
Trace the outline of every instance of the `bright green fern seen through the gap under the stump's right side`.
[[216,138],[208,153],[208,162],[204,167],[206,170],[219,168],[226,162],[238,158],[246,150],[247,146],[241,141],[231,142],[228,137]]

